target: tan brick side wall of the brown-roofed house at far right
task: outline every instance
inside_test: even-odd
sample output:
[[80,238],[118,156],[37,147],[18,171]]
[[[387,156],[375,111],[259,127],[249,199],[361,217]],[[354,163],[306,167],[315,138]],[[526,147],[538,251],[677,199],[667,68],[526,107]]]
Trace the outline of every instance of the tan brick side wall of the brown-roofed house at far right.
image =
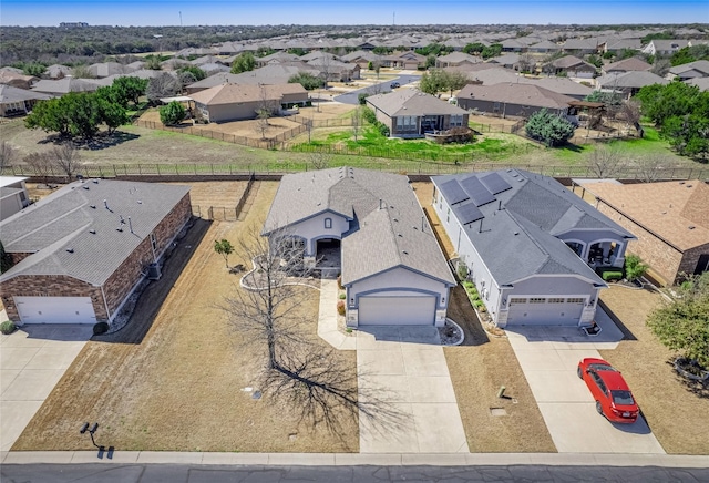
[[[603,201],[598,201],[598,210],[618,225],[638,237],[628,244],[629,254],[639,256],[643,261],[650,266],[650,276],[664,285],[674,285],[677,280],[678,273],[685,270],[692,273],[699,259],[699,253],[692,254],[695,249],[682,253],[666,242],[651,234],[643,226],[629,220],[623,214],[618,213],[612,206],[606,205]],[[703,251],[706,253],[706,251]],[[693,259],[691,268],[682,268],[690,264]]]

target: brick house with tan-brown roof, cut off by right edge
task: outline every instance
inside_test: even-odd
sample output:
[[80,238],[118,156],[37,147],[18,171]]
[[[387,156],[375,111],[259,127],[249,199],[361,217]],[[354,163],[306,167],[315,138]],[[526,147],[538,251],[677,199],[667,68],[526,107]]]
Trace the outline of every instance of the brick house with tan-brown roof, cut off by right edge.
[[650,266],[648,275],[664,285],[681,274],[709,270],[709,185],[686,182],[618,185],[588,183],[596,207],[633,232],[628,251]]

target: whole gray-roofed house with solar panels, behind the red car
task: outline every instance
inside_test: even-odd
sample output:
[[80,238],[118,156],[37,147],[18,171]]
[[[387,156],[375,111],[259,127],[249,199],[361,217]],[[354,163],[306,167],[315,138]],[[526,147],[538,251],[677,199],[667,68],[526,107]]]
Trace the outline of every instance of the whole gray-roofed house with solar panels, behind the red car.
[[557,181],[521,169],[433,176],[433,207],[494,322],[589,325],[597,269],[636,237]]

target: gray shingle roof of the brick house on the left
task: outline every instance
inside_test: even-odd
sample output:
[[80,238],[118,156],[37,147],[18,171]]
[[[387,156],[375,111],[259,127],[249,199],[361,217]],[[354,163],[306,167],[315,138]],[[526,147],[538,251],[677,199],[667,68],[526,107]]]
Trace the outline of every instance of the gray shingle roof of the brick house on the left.
[[[101,286],[188,192],[188,186],[157,183],[72,183],[0,223],[8,253],[34,253],[0,281],[19,275],[66,275]],[[123,232],[116,229],[121,226]]]

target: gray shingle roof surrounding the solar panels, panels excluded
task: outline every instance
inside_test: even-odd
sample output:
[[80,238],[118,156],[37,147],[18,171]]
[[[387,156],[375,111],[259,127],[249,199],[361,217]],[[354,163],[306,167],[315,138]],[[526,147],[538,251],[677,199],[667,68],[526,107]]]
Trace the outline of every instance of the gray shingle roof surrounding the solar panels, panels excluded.
[[[578,275],[603,284],[556,236],[574,228],[603,228],[620,236],[633,235],[553,178],[521,169],[495,173],[512,188],[497,193],[494,203],[479,206],[484,215],[482,222],[464,226],[495,280],[505,285],[537,274],[556,274]],[[451,179],[461,183],[487,174],[445,175],[431,179],[440,189]],[[470,203],[473,201],[456,206]]]

